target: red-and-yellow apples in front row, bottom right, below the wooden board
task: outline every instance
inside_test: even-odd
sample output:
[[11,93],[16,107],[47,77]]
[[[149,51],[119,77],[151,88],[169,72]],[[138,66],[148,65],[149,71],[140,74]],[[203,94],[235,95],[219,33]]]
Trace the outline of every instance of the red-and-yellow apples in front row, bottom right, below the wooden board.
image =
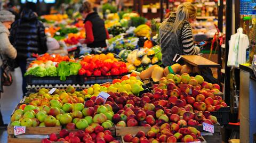
[[147,134],[139,131],[134,137],[132,134],[126,134],[123,137],[125,142],[193,142],[203,141],[201,133],[193,127],[180,128],[178,124],[163,124],[161,127],[153,126]]

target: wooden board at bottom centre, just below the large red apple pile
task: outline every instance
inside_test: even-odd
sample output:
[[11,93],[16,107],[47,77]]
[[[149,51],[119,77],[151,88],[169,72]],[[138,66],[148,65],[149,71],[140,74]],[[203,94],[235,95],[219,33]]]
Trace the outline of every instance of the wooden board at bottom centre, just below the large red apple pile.
[[151,127],[116,127],[116,136],[125,136],[126,134],[137,134],[138,131],[147,133]]

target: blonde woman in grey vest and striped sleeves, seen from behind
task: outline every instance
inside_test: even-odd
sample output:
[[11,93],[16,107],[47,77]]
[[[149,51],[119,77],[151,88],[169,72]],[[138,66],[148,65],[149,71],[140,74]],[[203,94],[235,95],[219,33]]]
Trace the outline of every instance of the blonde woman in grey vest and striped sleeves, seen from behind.
[[175,54],[196,55],[201,47],[194,45],[190,22],[196,18],[196,9],[191,3],[179,5],[176,13],[171,13],[160,28],[160,44],[164,66],[172,65]]

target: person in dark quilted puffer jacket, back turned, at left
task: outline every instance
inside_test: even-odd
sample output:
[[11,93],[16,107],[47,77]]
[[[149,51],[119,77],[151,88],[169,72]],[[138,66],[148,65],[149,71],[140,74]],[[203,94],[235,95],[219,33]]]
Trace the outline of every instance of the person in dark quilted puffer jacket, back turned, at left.
[[24,95],[27,91],[24,78],[27,58],[32,57],[33,53],[43,54],[47,51],[44,29],[43,23],[38,20],[36,4],[27,2],[21,12],[20,19],[13,23],[10,36],[11,43],[18,51],[16,59],[22,73],[22,90]]

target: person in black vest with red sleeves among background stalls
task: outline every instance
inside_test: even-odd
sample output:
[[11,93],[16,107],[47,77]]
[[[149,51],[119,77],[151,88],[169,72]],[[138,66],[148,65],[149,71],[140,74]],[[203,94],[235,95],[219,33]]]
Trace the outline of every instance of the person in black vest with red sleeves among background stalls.
[[90,48],[107,47],[106,39],[109,38],[108,31],[105,28],[104,21],[97,12],[93,12],[90,2],[83,2],[79,12],[84,18],[84,27],[86,32],[85,40],[80,42],[87,44]]

